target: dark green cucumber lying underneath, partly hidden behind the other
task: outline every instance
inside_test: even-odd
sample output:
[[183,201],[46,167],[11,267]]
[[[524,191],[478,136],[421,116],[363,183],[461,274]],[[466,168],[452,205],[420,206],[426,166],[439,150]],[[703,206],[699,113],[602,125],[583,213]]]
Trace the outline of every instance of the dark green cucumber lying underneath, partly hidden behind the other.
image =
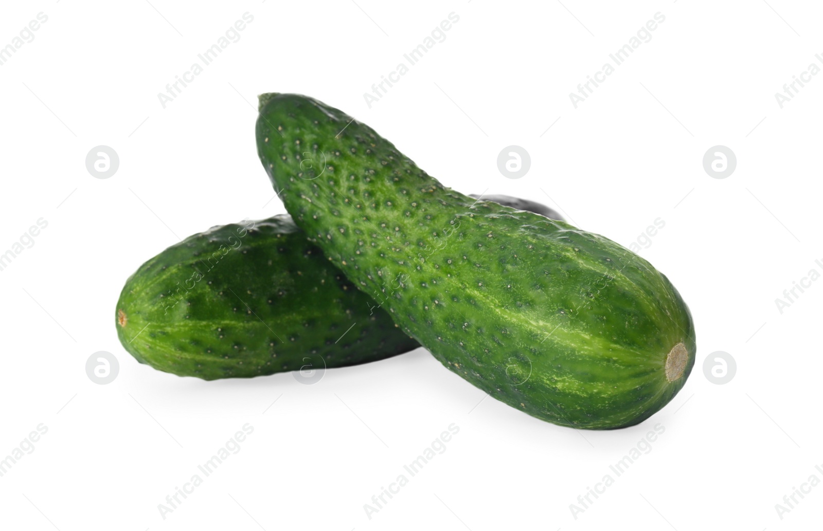
[[308,371],[420,346],[288,215],[213,227],[169,247],[128,279],[115,313],[137,361],[204,380],[300,369],[309,382]]

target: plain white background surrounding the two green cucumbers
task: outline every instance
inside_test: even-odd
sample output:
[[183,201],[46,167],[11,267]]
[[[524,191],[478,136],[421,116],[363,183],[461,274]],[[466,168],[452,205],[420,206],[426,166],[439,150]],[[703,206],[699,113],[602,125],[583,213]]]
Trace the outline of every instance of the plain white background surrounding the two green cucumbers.
[[[48,228],[0,271],[0,457],[41,422],[48,432],[0,478],[0,526],[819,526],[823,486],[783,519],[775,504],[811,474],[823,480],[823,281],[783,313],[775,299],[823,272],[823,76],[783,109],[774,93],[817,62],[823,12],[789,0],[625,3],[4,5],[0,46],[37,13],[49,19],[0,66],[0,252],[37,219]],[[253,22],[241,39],[164,109],[157,94],[244,12]],[[459,21],[444,42],[369,108],[363,94],[449,12]],[[574,109],[569,93],[656,12],[666,18],[653,38]],[[681,394],[639,426],[579,432],[481,402],[423,349],[314,386],[288,373],[204,382],[139,365],[115,332],[128,275],[178,237],[285,212],[254,144],[267,91],[345,110],[447,186],[545,202],[625,246],[663,219],[639,253],[695,319],[697,361]],[[111,178],[86,170],[96,145],[119,154]],[[525,177],[498,171],[507,145],[530,153]],[[704,171],[714,145],[737,155],[728,178]],[[85,370],[100,350],[120,363],[105,386]],[[715,351],[737,361],[725,385],[704,376]],[[162,519],[158,504],[246,422],[254,432],[239,453]],[[369,519],[364,504],[453,422],[447,450]],[[665,432],[649,454],[575,519],[570,504],[657,423]]]

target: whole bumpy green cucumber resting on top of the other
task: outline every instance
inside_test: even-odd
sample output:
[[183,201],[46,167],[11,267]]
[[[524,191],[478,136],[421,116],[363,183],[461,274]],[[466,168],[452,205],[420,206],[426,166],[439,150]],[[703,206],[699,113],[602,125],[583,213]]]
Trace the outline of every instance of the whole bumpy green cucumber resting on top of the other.
[[[642,422],[686,382],[690,312],[648,261],[444,187],[317,100],[260,104],[258,155],[295,223],[451,371],[534,417],[592,429]],[[677,344],[688,359],[668,381]]]

